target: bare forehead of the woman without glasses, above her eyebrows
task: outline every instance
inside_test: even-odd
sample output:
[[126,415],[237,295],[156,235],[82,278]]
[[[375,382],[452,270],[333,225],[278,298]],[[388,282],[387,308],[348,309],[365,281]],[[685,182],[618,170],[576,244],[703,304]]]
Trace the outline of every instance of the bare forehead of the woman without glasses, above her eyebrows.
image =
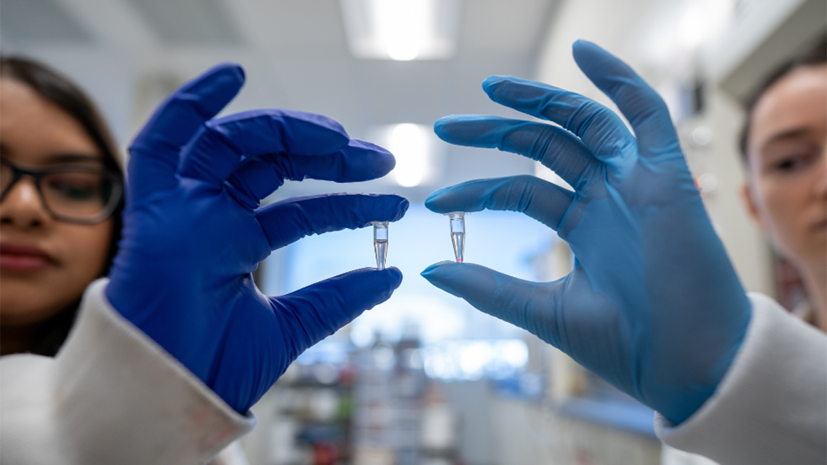
[[767,89],[753,109],[750,146],[794,129],[827,134],[827,65],[803,66]]

